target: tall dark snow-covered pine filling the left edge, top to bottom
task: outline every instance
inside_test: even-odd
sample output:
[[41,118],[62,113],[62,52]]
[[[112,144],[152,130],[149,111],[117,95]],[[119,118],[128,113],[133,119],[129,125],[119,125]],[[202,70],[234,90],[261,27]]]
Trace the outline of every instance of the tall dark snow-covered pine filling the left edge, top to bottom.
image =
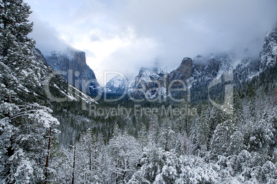
[[49,133],[58,132],[52,110],[35,103],[40,103],[39,98],[29,99],[30,91],[39,91],[41,76],[49,71],[34,57],[34,41],[28,38],[30,13],[22,0],[0,1],[0,180],[6,183],[50,179],[45,177],[50,173],[45,174],[45,168],[50,168],[45,167],[47,155],[48,164],[52,161]]

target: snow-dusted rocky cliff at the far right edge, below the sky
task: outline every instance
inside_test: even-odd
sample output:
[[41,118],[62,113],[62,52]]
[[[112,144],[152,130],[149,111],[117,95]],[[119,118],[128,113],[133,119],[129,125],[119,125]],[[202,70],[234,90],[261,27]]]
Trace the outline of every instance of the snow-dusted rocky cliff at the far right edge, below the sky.
[[265,37],[263,49],[260,51],[259,68],[265,71],[276,66],[277,60],[277,24],[269,34]]

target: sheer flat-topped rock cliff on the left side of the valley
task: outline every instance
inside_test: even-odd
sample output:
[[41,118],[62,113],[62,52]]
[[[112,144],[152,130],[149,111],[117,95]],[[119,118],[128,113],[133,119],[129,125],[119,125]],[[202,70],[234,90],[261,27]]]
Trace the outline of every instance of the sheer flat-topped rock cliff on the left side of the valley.
[[94,72],[85,62],[84,51],[68,47],[64,51],[53,51],[45,55],[45,59],[48,65],[56,71],[63,72],[61,74],[66,80],[83,90],[83,92],[90,95],[98,95],[99,91],[101,91]]

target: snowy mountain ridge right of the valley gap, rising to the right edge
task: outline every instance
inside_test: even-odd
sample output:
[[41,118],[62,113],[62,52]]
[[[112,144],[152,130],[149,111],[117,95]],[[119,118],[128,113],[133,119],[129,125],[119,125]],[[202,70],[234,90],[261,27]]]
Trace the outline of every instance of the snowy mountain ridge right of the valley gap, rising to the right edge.
[[[181,64],[177,69],[170,71],[170,73],[163,73],[162,75],[156,71],[142,67],[134,79],[134,86],[127,91],[132,91],[134,98],[155,98],[159,91],[163,89],[166,96],[169,95],[169,89],[188,89],[192,87],[195,94],[200,95],[201,100],[207,100],[207,86],[209,82],[215,78],[220,78],[227,71],[232,71],[232,80],[234,80],[234,87],[246,80],[251,80],[259,73],[276,67],[277,62],[277,25],[265,36],[264,45],[260,50],[260,56],[255,58],[236,59],[236,55],[232,51],[223,51],[218,54],[210,54],[209,56],[196,56],[192,59],[189,57],[183,58]],[[192,85],[194,84],[194,85]],[[200,86],[203,86],[199,89]],[[114,88],[115,91],[120,91]],[[124,91],[123,89],[121,91]],[[106,91],[108,93],[108,91]],[[123,93],[121,93],[123,94]],[[170,95],[183,96],[186,93],[174,92]],[[165,95],[163,93],[163,95]],[[197,97],[192,97],[196,100]],[[198,100],[196,100],[198,102]]]

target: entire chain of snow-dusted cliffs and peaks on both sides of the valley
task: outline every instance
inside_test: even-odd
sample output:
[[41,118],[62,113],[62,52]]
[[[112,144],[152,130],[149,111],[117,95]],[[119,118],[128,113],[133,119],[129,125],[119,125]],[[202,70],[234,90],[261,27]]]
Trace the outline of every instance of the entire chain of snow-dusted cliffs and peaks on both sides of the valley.
[[[196,58],[183,58],[181,65],[170,72],[167,69],[147,69],[142,67],[134,80],[122,76],[112,78],[104,88],[96,81],[94,72],[85,63],[85,53],[68,48],[65,51],[52,52],[45,58],[50,66],[57,71],[70,71],[74,84],[79,80],[87,82],[86,92],[90,95],[123,95],[129,93],[134,98],[155,99],[158,96],[183,96],[187,89],[191,89],[192,100],[207,99],[207,85],[214,78],[220,78],[227,71],[233,72],[234,86],[251,80],[258,73],[276,65],[276,28],[267,34],[265,44],[260,51],[260,58],[243,58],[238,60],[232,51],[223,51],[209,56],[196,56]],[[76,73],[78,71],[78,73]],[[76,75],[78,74],[78,75]],[[69,75],[68,75],[69,76]],[[68,77],[67,76],[67,77]],[[90,82],[88,82],[90,81]],[[76,84],[74,84],[76,86]],[[184,89],[183,91],[170,91],[170,89]],[[103,92],[103,93],[102,93]],[[193,96],[194,95],[194,96]]]

